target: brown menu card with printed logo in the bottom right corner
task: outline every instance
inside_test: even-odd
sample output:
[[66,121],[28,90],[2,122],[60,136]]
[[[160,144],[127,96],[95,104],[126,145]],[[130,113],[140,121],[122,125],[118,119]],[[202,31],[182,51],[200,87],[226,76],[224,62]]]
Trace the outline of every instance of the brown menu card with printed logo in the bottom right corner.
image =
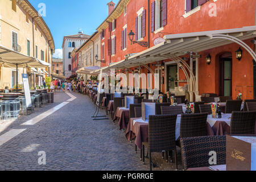
[[256,171],[256,137],[226,137],[227,171]]

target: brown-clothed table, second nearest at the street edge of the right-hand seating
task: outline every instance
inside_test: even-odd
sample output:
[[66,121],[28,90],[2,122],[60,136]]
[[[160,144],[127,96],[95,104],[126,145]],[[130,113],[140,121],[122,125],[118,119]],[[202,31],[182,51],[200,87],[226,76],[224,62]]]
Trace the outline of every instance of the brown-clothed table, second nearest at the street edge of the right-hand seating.
[[129,109],[125,107],[117,107],[115,111],[114,121],[118,119],[120,130],[126,129],[129,123]]

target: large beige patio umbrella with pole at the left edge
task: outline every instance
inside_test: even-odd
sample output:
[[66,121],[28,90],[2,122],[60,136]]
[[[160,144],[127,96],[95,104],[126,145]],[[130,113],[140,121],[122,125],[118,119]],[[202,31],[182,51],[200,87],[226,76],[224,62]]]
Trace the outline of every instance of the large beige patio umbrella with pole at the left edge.
[[[0,64],[7,68],[33,67],[33,68],[46,68],[50,64],[45,61],[36,59],[35,57],[26,56],[23,53],[16,52],[9,48],[0,45]],[[16,74],[16,91],[18,92],[18,74]]]

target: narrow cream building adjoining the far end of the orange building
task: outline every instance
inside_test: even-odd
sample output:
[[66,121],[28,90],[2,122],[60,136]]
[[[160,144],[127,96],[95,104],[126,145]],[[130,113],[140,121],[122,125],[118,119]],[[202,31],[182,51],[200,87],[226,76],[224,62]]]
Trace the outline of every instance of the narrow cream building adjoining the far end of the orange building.
[[[88,67],[101,67],[101,62],[96,61],[96,55],[98,59],[101,58],[101,39],[98,32],[94,32],[92,36],[82,46],[77,49],[79,53],[79,68]],[[84,75],[78,73],[78,77],[84,76],[85,80],[90,77],[90,75]]]

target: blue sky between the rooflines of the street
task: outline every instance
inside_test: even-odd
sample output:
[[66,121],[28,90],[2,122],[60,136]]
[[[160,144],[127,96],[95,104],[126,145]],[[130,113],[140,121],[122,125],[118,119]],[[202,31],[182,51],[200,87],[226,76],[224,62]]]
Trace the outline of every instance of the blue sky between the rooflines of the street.
[[[28,0],[36,10],[40,11],[46,5],[44,21],[51,30],[55,42],[53,57],[62,58],[62,42],[65,35],[77,34],[80,30],[84,34],[92,35],[96,28],[108,16],[107,3],[111,0]],[[113,0],[115,4],[119,0]]]

